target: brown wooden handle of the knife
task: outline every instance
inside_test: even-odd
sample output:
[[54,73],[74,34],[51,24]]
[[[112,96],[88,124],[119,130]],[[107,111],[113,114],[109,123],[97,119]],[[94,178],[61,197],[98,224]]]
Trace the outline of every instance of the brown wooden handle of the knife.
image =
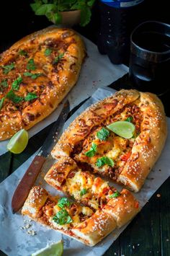
[[25,172],[12,197],[12,213],[16,213],[23,206],[44,162],[44,156],[35,156],[32,160],[30,167]]

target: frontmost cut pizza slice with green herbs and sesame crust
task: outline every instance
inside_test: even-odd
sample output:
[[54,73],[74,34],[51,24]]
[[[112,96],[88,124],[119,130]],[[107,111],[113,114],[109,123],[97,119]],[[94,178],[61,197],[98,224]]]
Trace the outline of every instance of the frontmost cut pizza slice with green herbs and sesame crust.
[[94,246],[129,220],[124,219],[122,209],[125,209],[127,200],[130,202],[129,210],[136,201],[128,190],[122,190],[121,195],[120,199],[112,198],[113,203],[110,201],[104,208],[94,212],[68,198],[53,197],[42,187],[36,186],[32,187],[28,195],[22,214],[86,245]]

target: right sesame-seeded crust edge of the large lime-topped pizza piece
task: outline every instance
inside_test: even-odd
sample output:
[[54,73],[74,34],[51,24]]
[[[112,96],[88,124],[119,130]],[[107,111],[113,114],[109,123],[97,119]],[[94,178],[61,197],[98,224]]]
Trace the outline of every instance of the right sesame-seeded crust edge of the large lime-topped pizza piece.
[[132,154],[118,181],[138,192],[161,154],[167,136],[166,115],[161,100],[155,94],[140,92],[143,112],[141,133],[133,145]]

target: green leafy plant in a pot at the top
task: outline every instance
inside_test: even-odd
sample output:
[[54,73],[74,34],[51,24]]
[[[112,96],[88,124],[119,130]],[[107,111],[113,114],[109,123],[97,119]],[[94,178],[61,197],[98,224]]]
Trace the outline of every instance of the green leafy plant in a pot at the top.
[[30,4],[36,15],[45,15],[50,22],[58,25],[62,22],[61,12],[81,10],[82,27],[86,26],[91,19],[91,6],[95,0],[34,0]]

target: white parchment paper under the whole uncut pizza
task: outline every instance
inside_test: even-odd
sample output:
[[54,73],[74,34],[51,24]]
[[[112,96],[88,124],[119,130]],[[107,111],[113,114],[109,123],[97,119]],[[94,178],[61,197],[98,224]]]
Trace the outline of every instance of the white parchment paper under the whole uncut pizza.
[[[83,36],[81,36],[83,37]],[[107,86],[112,81],[119,79],[121,76],[128,72],[128,67],[124,65],[113,65],[107,56],[103,56],[97,50],[97,46],[90,40],[83,37],[86,45],[86,51],[88,57],[82,66],[81,74],[76,85],[68,93],[68,100],[71,105],[71,109],[80,102],[91,96],[93,92],[101,86]],[[46,126],[57,120],[59,113],[61,112],[62,104],[45,120],[37,123],[30,129],[29,136],[32,137]],[[0,155],[6,152],[6,145],[8,140],[0,141]]]

